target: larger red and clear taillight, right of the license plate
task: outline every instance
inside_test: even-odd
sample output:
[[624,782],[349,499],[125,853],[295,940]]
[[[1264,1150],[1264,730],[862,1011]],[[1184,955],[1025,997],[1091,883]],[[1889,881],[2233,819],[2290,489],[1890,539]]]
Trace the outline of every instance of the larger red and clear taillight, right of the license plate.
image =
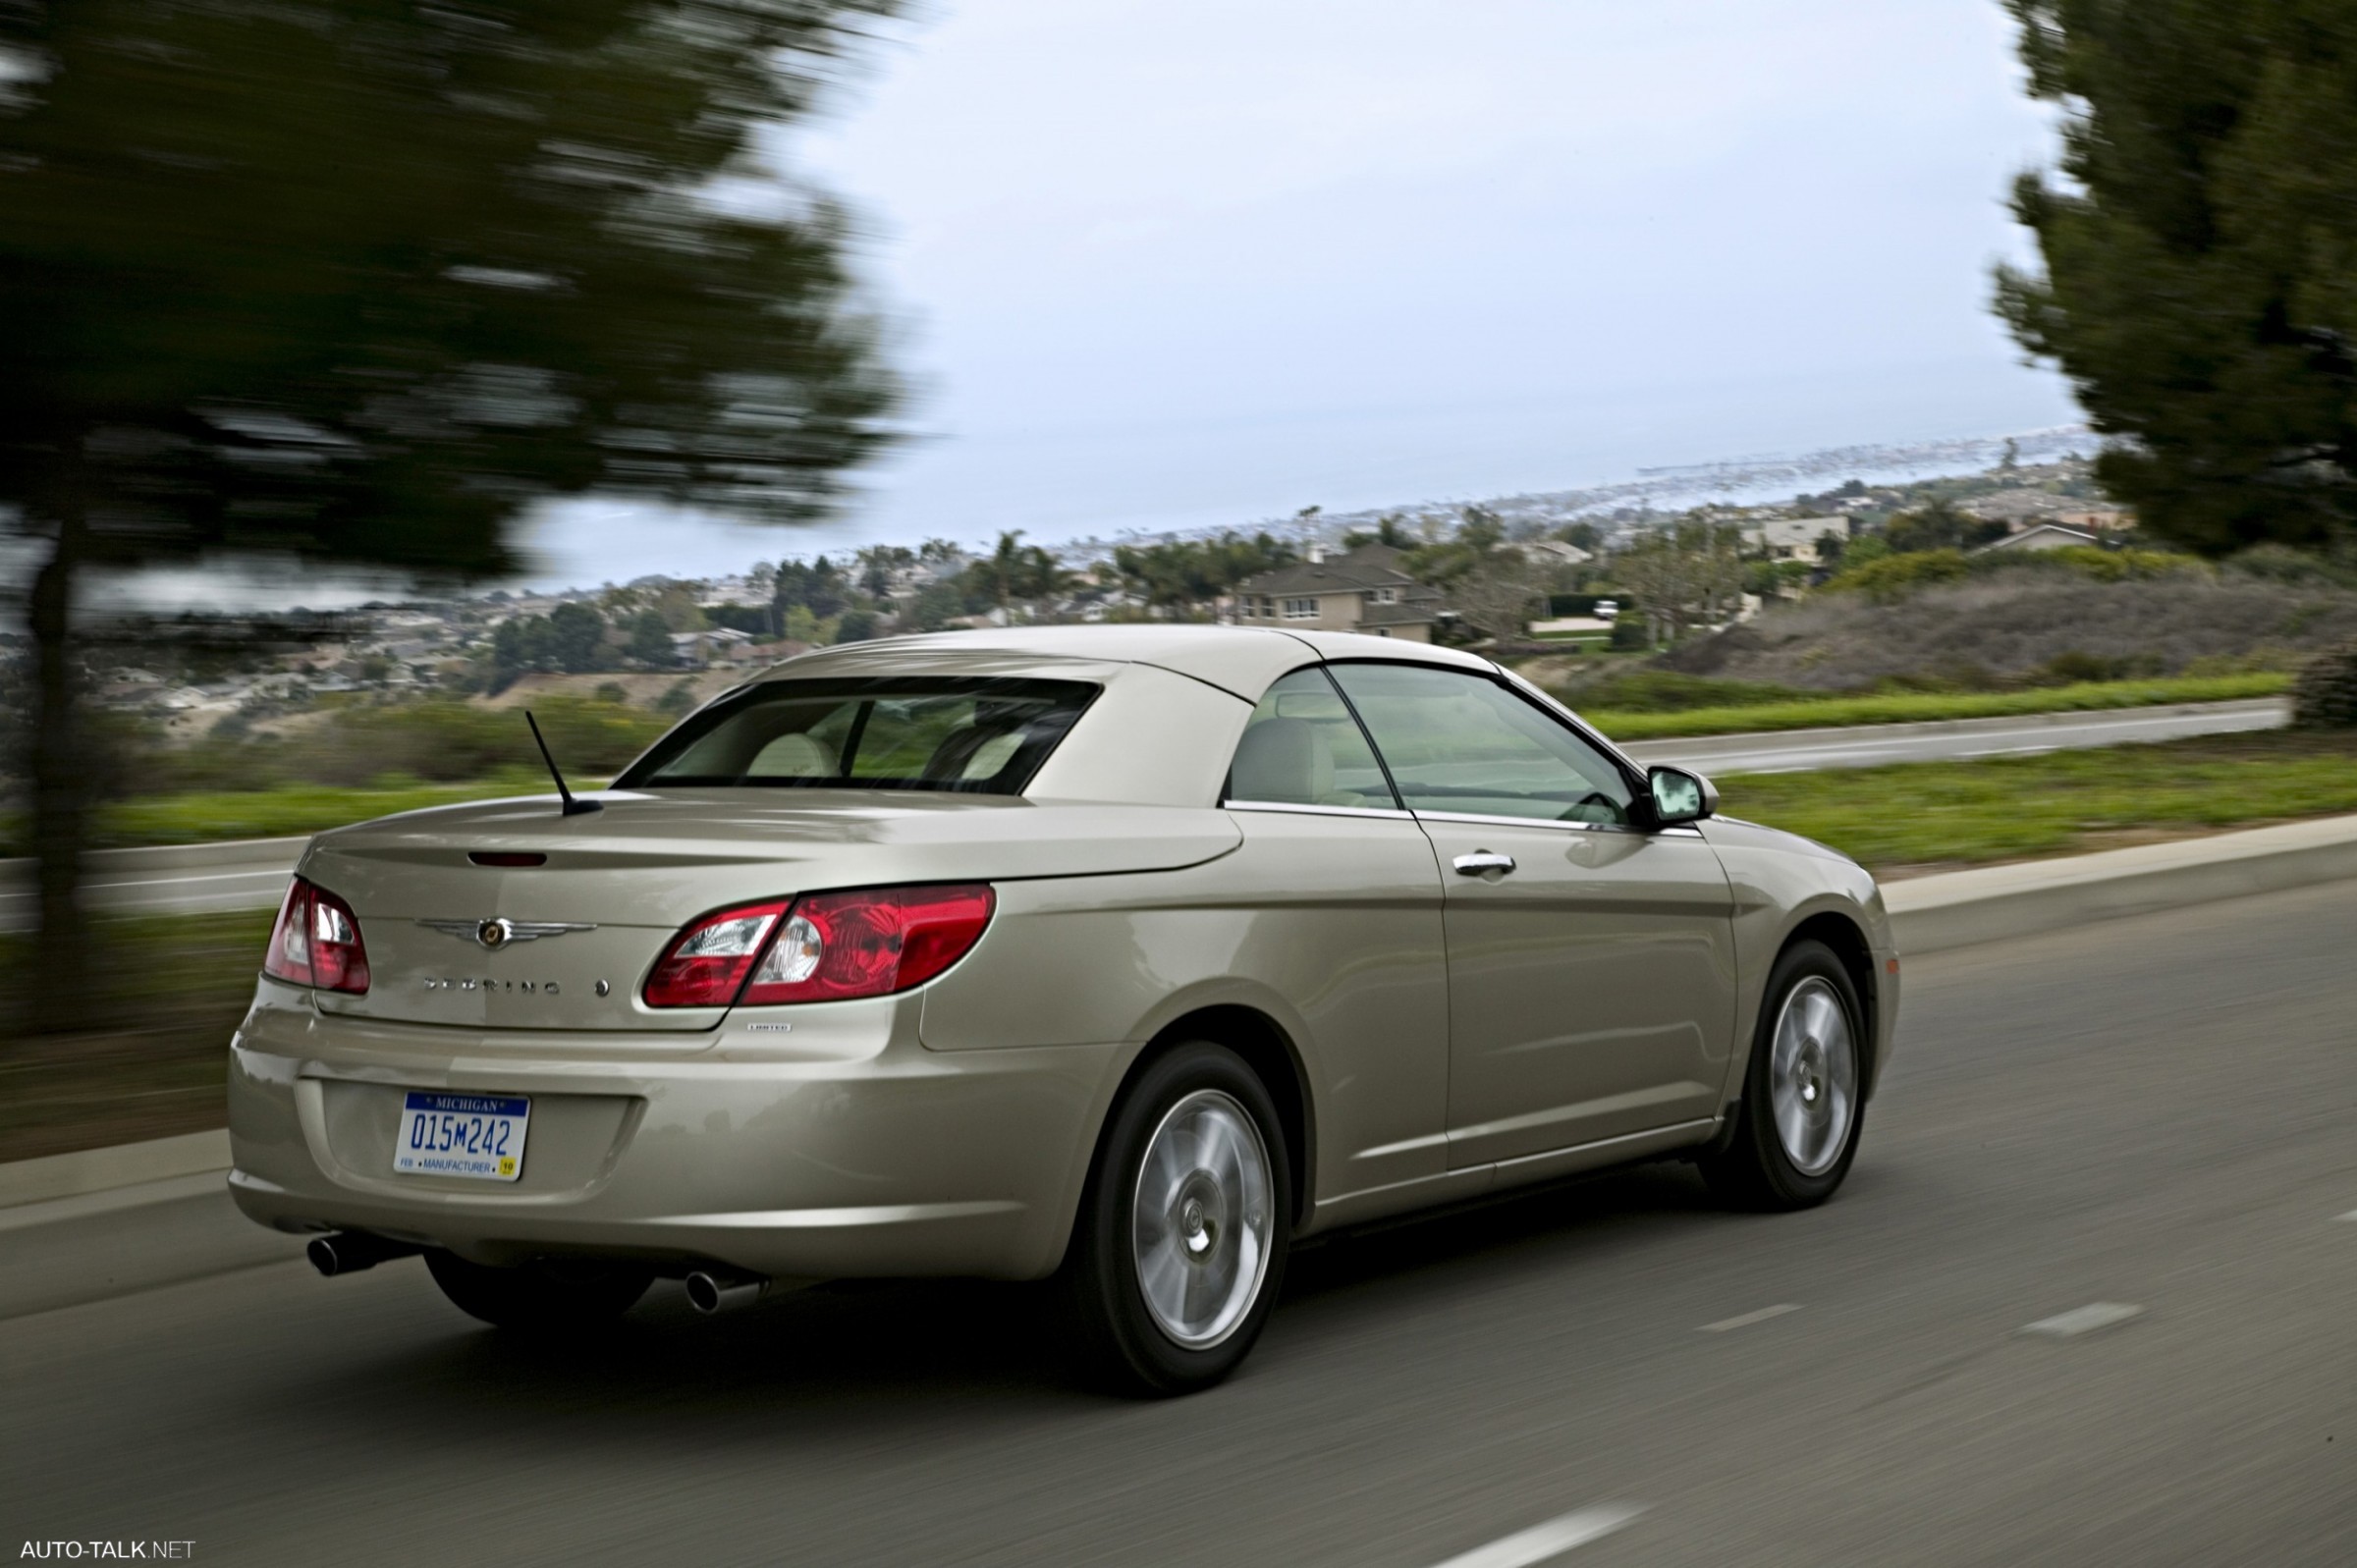
[[721,910],[665,950],[646,981],[646,1004],[780,1007],[910,990],[962,960],[981,941],[992,908],[990,887],[976,882]]

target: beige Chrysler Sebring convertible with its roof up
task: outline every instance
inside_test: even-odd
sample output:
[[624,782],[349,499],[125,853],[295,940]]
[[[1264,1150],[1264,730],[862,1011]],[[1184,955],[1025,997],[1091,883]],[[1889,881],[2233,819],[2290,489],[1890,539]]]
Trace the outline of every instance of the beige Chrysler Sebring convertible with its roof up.
[[1758,1210],[1841,1186],[1890,922],[1716,804],[1405,641],[827,648],[610,790],[313,839],[231,1191],[514,1330],[658,1276],[1054,1276],[1108,1379],[1197,1389],[1320,1231],[1657,1158]]

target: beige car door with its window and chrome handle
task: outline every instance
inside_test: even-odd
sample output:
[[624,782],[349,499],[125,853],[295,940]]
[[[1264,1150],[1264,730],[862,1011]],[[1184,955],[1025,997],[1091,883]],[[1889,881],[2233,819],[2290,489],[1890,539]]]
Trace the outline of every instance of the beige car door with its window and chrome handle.
[[1332,665],[1442,868],[1450,1165],[1716,1115],[1735,1026],[1732,894],[1692,828],[1504,679]]

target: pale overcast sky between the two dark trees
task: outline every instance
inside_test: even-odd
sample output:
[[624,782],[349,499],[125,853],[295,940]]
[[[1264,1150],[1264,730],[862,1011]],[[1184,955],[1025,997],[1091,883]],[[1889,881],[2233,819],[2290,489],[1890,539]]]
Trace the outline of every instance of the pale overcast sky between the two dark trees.
[[915,439],[823,531],[575,507],[535,580],[1252,523],[2074,420],[1987,314],[1996,0],[966,0],[780,146]]

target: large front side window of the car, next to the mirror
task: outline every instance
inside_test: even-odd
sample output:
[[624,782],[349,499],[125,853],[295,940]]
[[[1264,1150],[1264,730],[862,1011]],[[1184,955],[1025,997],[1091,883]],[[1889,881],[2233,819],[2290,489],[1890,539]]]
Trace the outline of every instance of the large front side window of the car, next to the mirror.
[[1414,811],[1626,825],[1622,769],[1506,686],[1428,665],[1332,665]]

